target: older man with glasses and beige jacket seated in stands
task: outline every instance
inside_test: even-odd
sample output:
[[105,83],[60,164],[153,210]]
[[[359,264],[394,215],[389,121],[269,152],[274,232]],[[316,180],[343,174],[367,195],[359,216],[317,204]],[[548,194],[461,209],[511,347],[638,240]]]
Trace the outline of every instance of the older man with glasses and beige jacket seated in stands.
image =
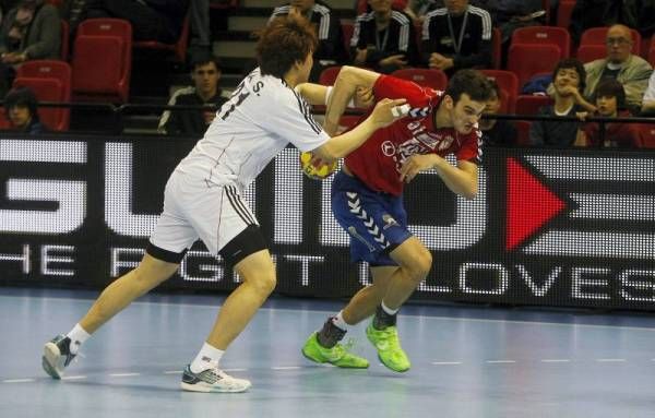
[[653,68],[646,60],[630,52],[632,36],[627,26],[610,26],[607,31],[606,47],[606,58],[584,65],[587,72],[585,96],[593,97],[596,86],[603,79],[616,79],[623,84],[628,107],[641,108]]

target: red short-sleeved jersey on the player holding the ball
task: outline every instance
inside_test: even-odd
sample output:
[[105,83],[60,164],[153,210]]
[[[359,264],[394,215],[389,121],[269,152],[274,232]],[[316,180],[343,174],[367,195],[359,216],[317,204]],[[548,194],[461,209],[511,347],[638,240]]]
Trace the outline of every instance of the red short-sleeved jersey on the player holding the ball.
[[346,166],[370,189],[400,195],[403,193],[401,167],[414,154],[454,154],[457,160],[478,162],[481,133],[475,128],[461,134],[454,128],[434,128],[433,112],[443,92],[381,75],[373,85],[376,99],[406,98],[409,115],[379,129],[346,158]]

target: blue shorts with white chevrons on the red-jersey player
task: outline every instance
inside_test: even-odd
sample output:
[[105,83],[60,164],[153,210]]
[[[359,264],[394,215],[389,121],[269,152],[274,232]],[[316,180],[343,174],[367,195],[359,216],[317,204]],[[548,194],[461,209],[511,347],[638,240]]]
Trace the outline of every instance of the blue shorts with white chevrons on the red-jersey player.
[[350,236],[354,262],[397,265],[389,253],[412,237],[403,196],[376,192],[340,171],[332,181],[332,213]]

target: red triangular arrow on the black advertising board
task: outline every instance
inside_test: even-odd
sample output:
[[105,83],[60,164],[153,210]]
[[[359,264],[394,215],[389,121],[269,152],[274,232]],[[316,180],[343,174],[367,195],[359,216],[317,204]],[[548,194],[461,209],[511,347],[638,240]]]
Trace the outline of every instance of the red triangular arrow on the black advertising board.
[[508,158],[507,176],[505,249],[509,251],[562,212],[565,203],[514,158]]

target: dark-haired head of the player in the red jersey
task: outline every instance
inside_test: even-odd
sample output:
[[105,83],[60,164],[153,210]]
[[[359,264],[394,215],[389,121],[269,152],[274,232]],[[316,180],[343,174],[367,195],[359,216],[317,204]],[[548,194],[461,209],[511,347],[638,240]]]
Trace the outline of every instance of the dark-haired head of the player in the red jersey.
[[457,132],[471,133],[480,119],[492,92],[489,80],[476,70],[461,70],[450,79],[443,105]]

